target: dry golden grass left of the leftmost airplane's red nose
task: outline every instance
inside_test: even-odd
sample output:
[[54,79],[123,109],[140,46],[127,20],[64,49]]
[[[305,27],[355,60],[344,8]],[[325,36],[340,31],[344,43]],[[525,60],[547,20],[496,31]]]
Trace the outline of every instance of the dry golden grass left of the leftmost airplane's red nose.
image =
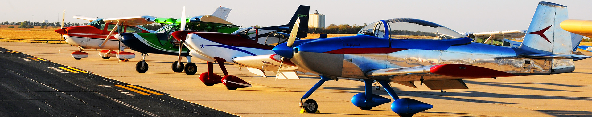
[[[8,28],[9,26],[15,28]],[[0,25],[0,41],[26,42],[26,43],[47,43],[48,41],[33,40],[54,40],[49,43],[59,43],[60,34],[54,32],[57,28],[17,28],[18,25]],[[20,40],[19,40],[20,39]],[[62,39],[63,40],[63,39]],[[66,44],[65,41],[62,41]]]

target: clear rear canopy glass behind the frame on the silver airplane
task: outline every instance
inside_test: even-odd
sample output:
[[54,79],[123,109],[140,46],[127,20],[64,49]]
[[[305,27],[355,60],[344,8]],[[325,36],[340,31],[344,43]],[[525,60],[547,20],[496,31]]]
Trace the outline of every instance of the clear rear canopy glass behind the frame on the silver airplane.
[[465,36],[442,25],[420,19],[388,19],[390,38],[404,40],[448,40]]

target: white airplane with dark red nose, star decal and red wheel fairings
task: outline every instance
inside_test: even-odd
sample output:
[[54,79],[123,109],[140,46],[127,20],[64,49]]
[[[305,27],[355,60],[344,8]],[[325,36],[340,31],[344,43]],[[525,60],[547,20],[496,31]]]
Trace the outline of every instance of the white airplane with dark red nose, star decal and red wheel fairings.
[[[231,34],[224,34],[219,32],[192,32],[192,31],[176,31],[172,35],[175,39],[181,41],[188,47],[189,55],[208,61],[208,72],[200,74],[200,80],[205,85],[211,86],[217,83],[223,83],[227,89],[234,90],[242,87],[251,87],[251,85],[236,76],[231,76],[226,71],[224,63],[244,66],[249,71],[265,77],[263,70],[278,70],[280,56],[270,56],[275,54],[271,49],[278,43],[286,41],[289,34],[285,32],[299,31],[300,35],[297,37],[303,38],[307,34],[307,25],[295,26],[292,25],[300,22],[298,18],[304,19],[303,24],[308,23],[309,6],[300,5],[294,16],[290,19],[288,24],[279,25],[275,27],[263,28],[242,28]],[[290,29],[292,27],[292,29]],[[300,27],[300,30],[298,30]],[[266,56],[259,56],[266,55]],[[265,59],[264,61],[257,61],[255,63],[244,63],[242,60],[253,61],[254,59]],[[243,63],[242,63],[243,62]],[[224,77],[213,73],[213,63],[218,63],[224,73]],[[260,64],[259,64],[260,63]],[[255,64],[255,65],[251,65]],[[289,62],[285,62],[289,64]],[[295,66],[287,67],[290,70],[281,70],[278,79],[297,79],[298,76],[294,68]],[[282,67],[282,68],[284,68]],[[254,69],[261,68],[261,69]],[[301,71],[307,73],[307,71]],[[314,74],[312,74],[314,75]],[[294,77],[295,76],[295,77]]]

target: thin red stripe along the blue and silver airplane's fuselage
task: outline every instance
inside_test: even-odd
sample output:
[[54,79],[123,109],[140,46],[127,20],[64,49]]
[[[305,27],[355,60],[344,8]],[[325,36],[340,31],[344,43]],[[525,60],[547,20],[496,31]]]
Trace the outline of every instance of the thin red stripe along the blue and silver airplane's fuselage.
[[324,53],[330,54],[378,54],[378,53],[394,53],[397,51],[407,50],[407,48],[390,48],[390,47],[378,47],[378,48],[340,48],[338,50],[327,51]]

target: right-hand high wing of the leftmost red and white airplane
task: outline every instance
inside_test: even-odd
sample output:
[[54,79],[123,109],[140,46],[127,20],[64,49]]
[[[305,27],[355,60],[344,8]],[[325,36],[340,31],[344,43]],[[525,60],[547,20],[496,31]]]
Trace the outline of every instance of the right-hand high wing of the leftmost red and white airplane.
[[154,23],[156,17],[152,16],[135,16],[135,17],[120,17],[120,18],[105,18],[103,21],[117,23],[121,22],[122,25],[142,25]]

